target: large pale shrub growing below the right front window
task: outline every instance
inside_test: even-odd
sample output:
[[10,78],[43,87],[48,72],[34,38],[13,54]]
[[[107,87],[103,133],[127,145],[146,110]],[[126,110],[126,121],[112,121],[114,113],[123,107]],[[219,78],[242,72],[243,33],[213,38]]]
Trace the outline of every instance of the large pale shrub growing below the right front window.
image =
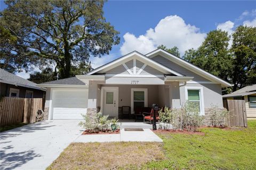
[[204,116],[199,113],[197,104],[187,101],[181,109],[177,110],[175,126],[180,130],[195,132],[204,121]]

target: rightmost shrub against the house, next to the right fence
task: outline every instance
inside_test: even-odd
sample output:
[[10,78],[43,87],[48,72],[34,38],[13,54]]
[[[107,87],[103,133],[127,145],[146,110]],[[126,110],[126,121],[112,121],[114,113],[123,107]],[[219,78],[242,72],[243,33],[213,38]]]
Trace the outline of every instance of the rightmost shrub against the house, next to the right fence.
[[210,122],[213,127],[224,127],[229,115],[227,109],[219,109],[217,106],[212,105],[209,110]]

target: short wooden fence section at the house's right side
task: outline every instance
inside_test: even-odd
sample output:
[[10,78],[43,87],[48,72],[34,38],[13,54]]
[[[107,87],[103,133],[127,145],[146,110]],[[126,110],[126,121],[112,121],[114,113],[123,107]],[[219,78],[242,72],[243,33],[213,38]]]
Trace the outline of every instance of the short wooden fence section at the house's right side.
[[247,127],[244,100],[225,99],[223,100],[223,106],[229,111],[229,126]]

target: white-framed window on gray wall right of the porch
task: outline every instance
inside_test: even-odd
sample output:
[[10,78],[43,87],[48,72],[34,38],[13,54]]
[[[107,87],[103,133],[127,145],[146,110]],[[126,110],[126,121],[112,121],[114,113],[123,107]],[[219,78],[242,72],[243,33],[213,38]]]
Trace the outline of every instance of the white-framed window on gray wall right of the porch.
[[203,87],[185,87],[186,100],[194,103],[201,115],[204,115]]

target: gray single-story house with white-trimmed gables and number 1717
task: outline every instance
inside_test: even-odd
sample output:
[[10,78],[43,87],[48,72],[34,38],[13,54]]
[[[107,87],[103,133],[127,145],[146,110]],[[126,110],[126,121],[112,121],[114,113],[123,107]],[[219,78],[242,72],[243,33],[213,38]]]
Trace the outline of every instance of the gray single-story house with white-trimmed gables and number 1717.
[[118,118],[118,108],[181,108],[186,100],[207,115],[211,104],[223,108],[222,87],[231,84],[163,49],[143,55],[136,51],[85,75],[38,84],[47,88],[45,117],[78,119],[101,111]]

